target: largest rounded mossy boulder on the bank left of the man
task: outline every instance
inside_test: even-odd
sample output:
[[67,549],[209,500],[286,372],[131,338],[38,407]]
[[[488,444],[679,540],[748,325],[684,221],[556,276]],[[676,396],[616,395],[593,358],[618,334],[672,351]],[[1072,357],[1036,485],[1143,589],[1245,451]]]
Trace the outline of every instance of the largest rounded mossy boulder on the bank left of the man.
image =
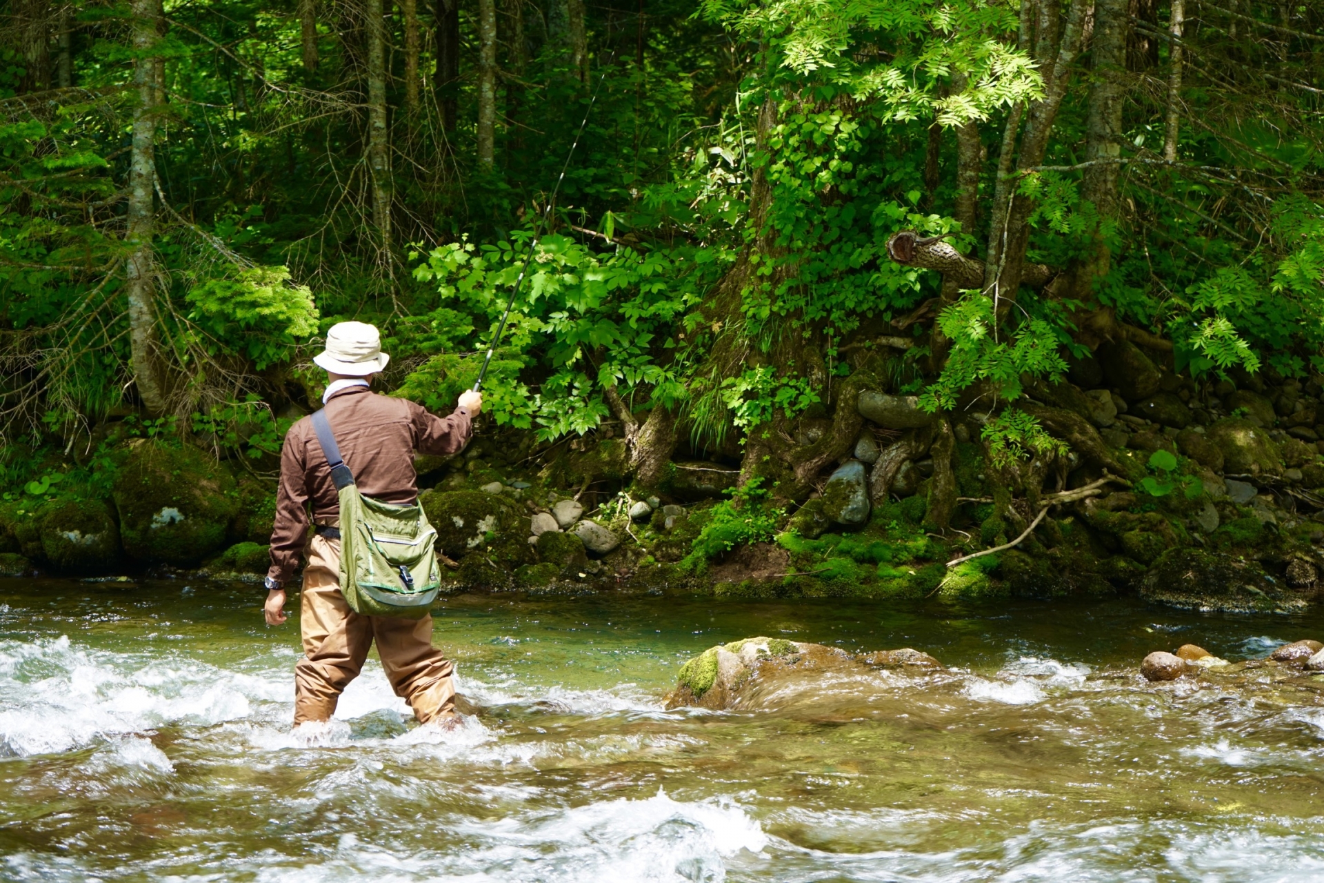
[[225,547],[240,510],[234,478],[191,445],[139,442],[114,485],[119,535],[131,557],[195,565]]

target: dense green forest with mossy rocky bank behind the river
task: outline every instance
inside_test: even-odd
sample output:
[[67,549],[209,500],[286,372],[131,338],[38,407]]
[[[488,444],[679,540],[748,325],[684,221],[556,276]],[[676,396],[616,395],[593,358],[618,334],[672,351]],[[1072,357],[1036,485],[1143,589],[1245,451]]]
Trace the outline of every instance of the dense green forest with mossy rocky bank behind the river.
[[326,328],[379,326],[377,388],[445,414],[511,303],[474,443],[416,463],[457,585],[1316,589],[1319,4],[0,26],[7,573],[265,571]]

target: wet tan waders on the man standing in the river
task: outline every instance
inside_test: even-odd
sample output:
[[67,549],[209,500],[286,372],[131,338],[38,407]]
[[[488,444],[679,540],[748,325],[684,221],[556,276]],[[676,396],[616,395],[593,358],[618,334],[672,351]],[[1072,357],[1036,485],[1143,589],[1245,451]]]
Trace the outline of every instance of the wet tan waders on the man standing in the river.
[[340,594],[340,540],[316,534],[308,543],[301,617],[305,655],[294,667],[295,725],[330,720],[373,641],[387,679],[421,723],[454,718],[453,669],[432,646],[432,616],[401,620],[351,610]]

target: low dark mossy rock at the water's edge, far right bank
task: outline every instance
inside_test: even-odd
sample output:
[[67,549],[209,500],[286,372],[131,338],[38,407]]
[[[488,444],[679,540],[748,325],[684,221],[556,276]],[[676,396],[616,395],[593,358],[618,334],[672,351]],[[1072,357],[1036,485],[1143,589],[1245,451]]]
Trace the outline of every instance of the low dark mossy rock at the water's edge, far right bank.
[[1140,596],[1188,610],[1288,613],[1304,609],[1308,593],[1287,589],[1255,560],[1174,548],[1164,552],[1140,580]]

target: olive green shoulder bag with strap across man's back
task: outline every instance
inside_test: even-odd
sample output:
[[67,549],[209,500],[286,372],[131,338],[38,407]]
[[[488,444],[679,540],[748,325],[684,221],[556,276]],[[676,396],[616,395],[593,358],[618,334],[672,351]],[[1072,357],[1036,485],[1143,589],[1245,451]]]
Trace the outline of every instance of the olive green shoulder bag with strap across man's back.
[[340,496],[340,593],[355,613],[421,620],[441,589],[437,531],[417,503],[396,506],[359,492],[326,409],[312,414],[312,429]]

